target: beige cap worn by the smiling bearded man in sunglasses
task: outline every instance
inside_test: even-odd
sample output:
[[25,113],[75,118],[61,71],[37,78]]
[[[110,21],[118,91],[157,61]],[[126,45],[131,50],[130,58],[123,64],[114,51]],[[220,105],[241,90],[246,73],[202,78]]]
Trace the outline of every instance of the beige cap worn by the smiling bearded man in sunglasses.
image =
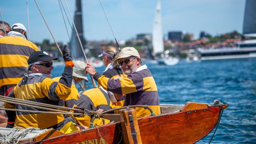
[[120,53],[119,53],[119,57],[117,59],[115,59],[114,62],[117,62],[119,59],[121,58],[126,58],[126,57],[130,57],[130,56],[135,56],[135,57],[139,57],[139,52],[133,48],[133,47],[125,47],[123,48]]

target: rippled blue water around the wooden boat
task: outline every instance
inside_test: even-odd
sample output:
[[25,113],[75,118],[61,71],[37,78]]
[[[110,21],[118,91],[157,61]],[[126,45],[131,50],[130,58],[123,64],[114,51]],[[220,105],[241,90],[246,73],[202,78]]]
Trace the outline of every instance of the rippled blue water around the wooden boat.
[[[256,143],[256,59],[147,66],[156,81],[160,103],[213,103],[218,99],[228,104],[211,143]],[[57,66],[53,76],[62,70]],[[102,72],[104,67],[96,70]],[[88,88],[92,88],[91,82]],[[212,134],[197,144],[208,143]]]

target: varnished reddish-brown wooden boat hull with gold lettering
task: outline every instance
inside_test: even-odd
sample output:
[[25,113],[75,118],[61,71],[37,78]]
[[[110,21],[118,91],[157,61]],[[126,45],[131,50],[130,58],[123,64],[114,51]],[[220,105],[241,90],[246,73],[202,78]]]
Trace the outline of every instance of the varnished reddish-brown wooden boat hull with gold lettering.
[[[138,119],[143,144],[191,144],[204,138],[216,126],[221,110],[227,106],[209,106]],[[121,141],[121,142],[120,142]],[[123,143],[120,122],[93,127],[34,144],[118,144]]]

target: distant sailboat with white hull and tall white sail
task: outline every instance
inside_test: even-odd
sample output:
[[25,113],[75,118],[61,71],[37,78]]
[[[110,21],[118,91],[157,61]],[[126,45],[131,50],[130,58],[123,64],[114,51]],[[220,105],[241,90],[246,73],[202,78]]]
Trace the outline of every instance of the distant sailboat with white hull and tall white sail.
[[178,58],[169,56],[169,50],[164,52],[161,20],[161,0],[158,0],[158,4],[156,6],[156,15],[154,19],[152,39],[154,54],[156,55],[161,53],[161,57],[158,59],[159,64],[176,65],[179,62]]

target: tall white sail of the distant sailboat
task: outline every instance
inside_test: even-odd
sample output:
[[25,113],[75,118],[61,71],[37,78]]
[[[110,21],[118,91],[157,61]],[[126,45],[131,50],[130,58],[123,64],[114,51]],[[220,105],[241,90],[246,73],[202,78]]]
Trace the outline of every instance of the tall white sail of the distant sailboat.
[[153,25],[153,50],[154,53],[162,53],[164,50],[163,47],[163,33],[162,33],[162,20],[161,20],[161,2],[158,0],[158,4],[156,6],[156,15],[154,19]]

